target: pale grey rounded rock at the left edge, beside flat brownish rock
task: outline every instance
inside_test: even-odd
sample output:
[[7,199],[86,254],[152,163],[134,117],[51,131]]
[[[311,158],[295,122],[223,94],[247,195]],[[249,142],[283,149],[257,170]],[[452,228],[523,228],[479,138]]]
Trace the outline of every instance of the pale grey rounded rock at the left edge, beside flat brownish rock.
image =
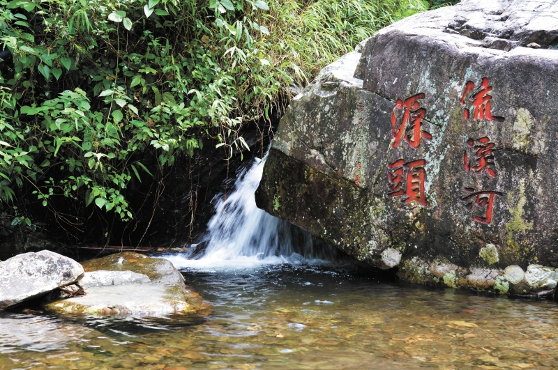
[[50,251],[24,253],[0,262],[0,309],[38,298],[82,278],[80,263]]

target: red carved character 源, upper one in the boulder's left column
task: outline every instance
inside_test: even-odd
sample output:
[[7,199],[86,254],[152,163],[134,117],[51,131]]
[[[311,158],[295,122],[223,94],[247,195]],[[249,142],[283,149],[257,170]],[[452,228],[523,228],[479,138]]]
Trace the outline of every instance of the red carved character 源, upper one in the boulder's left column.
[[[413,95],[411,98],[405,99],[405,102],[398,99],[391,111],[391,136],[395,139],[393,148],[397,148],[401,139],[405,139],[413,148],[421,145],[421,137],[425,140],[432,139],[429,132],[423,131],[423,118],[426,109],[422,108],[417,102],[418,99],[424,99],[424,93]],[[395,109],[403,109],[403,116],[398,124],[395,117]]]

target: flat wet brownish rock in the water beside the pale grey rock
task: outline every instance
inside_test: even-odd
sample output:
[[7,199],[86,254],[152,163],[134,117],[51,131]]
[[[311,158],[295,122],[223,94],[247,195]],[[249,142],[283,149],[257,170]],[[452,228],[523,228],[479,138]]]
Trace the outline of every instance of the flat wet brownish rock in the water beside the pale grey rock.
[[86,295],[48,302],[47,309],[98,316],[168,316],[207,308],[165,259],[123,252],[83,266]]

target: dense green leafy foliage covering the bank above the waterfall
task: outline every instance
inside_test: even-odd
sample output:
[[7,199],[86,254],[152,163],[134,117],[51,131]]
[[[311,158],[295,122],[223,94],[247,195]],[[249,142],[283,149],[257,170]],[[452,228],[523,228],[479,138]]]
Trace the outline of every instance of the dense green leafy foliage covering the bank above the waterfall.
[[248,148],[243,122],[269,118],[291,84],[418,10],[407,0],[0,0],[0,50],[12,55],[0,61],[0,201],[24,187],[43,206],[65,196],[128,220],[128,182],[153,176],[138,158],[172,165],[206,137],[225,156]]

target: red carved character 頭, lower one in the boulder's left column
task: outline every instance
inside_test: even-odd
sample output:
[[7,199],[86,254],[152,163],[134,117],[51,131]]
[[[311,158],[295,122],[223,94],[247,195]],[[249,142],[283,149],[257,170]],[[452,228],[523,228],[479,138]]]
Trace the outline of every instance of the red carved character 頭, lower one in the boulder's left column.
[[[425,163],[425,160],[414,160],[407,163],[403,160],[397,160],[388,164],[388,169],[391,170],[388,172],[388,187],[391,190],[388,195],[404,196],[402,201],[405,203],[416,201],[423,207],[430,206],[424,194],[424,182],[426,180]],[[407,176],[404,176],[405,171]]]

